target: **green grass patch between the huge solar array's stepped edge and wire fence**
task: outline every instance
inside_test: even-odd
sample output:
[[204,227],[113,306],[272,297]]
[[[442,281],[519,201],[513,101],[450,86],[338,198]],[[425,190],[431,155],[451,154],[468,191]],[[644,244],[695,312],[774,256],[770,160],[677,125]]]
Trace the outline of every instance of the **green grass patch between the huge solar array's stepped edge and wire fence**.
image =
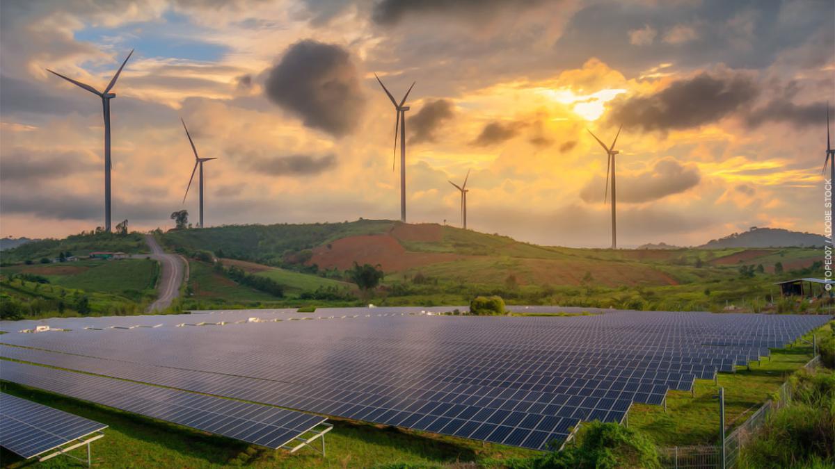
[[[828,326],[825,326],[828,327]],[[807,340],[811,334],[805,336]],[[740,367],[736,373],[720,373],[725,388],[726,433],[746,421],[770,399],[787,376],[812,359],[812,346],[799,340],[792,348],[772,350],[771,361]],[[629,425],[650,436],[657,446],[710,445],[719,441],[718,386],[713,381],[696,381],[696,396],[689,391],[667,392],[667,411],[661,406],[634,404]]]

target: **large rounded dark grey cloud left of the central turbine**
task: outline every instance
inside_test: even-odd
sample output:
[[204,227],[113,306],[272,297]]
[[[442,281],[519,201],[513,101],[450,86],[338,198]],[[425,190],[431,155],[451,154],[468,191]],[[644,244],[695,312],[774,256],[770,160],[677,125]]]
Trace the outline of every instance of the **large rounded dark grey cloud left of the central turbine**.
[[265,91],[306,126],[337,136],[354,129],[365,104],[357,68],[347,50],[311,39],[287,49],[269,71]]

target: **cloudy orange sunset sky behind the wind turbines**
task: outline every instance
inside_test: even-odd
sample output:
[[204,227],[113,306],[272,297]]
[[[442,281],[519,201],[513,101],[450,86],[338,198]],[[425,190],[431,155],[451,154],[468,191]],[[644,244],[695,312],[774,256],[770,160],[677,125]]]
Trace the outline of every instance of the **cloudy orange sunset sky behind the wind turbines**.
[[[751,226],[822,233],[831,0],[4,0],[0,235],[114,225],[398,219],[544,245],[701,245]],[[835,111],[832,119],[835,120]]]

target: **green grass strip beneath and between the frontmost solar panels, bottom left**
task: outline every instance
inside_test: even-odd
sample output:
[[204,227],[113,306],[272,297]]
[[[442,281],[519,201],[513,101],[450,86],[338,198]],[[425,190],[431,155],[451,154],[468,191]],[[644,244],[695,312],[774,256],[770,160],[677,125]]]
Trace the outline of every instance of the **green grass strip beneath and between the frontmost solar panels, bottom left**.
[[[108,425],[105,437],[92,444],[94,466],[99,467],[437,467],[459,461],[478,462],[534,454],[534,451],[521,448],[489,443],[482,445],[451,436],[333,420],[334,429],[326,435],[326,456],[323,458],[309,448],[296,454],[271,451],[12,383],[3,383],[3,392]],[[0,459],[3,466],[18,468],[27,465],[18,456],[2,451]],[[86,457],[84,451],[79,448],[70,454]],[[43,463],[43,467],[79,465],[66,457]]]

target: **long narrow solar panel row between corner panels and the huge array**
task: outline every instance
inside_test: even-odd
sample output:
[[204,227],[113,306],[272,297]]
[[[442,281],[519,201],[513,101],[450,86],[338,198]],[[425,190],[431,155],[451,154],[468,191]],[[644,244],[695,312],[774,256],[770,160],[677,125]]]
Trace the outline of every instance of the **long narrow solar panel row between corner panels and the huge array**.
[[13,361],[3,362],[3,380],[270,448],[283,446],[326,420],[271,406]]

